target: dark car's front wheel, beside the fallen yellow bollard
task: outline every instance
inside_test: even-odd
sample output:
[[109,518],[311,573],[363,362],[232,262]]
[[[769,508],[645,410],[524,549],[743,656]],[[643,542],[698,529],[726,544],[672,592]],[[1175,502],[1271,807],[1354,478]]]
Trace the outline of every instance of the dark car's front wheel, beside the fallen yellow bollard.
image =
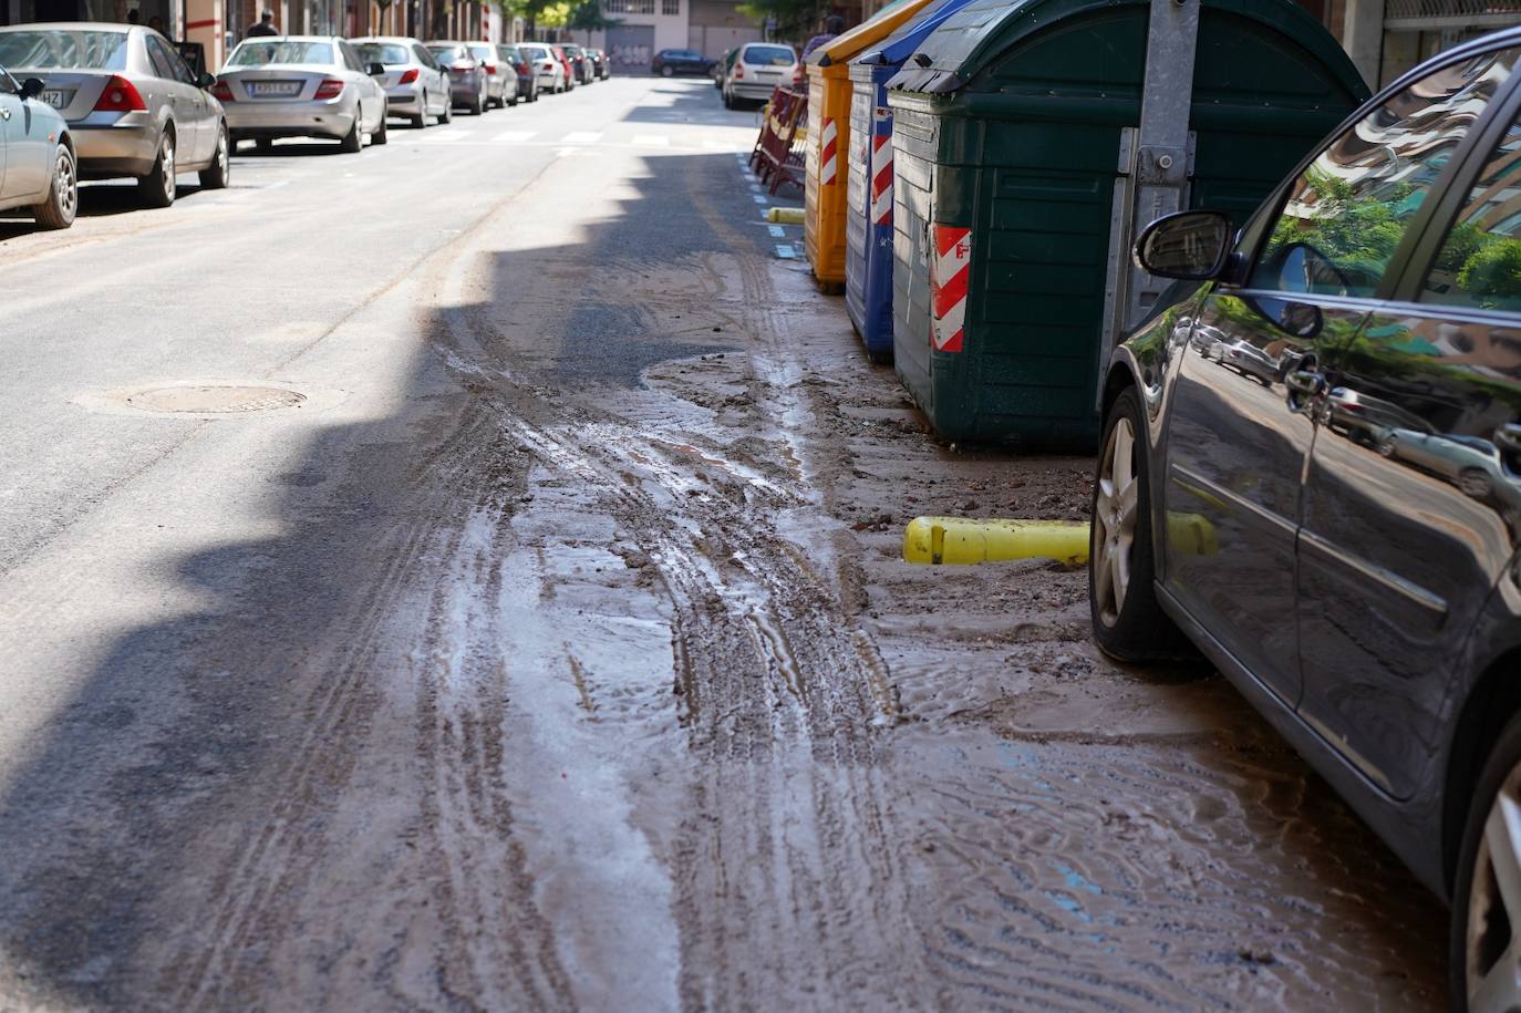
[[1094,640],[1121,662],[1188,657],[1183,634],[1162,611],[1153,575],[1151,476],[1145,417],[1133,386],[1104,420],[1088,545],[1088,602]]

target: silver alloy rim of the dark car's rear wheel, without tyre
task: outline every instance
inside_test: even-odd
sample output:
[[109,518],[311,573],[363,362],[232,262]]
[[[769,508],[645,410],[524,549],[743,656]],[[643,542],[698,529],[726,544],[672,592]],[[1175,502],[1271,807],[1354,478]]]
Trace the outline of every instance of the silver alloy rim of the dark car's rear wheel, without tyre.
[[1521,1008],[1521,765],[1501,782],[1474,856],[1463,980],[1469,1013]]

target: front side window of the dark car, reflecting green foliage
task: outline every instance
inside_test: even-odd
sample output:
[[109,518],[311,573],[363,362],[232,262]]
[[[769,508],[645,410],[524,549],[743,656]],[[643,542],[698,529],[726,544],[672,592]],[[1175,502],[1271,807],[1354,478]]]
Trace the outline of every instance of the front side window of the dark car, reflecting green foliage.
[[1405,230],[1518,53],[1506,49],[1448,64],[1331,141],[1290,186],[1252,286],[1373,295]]

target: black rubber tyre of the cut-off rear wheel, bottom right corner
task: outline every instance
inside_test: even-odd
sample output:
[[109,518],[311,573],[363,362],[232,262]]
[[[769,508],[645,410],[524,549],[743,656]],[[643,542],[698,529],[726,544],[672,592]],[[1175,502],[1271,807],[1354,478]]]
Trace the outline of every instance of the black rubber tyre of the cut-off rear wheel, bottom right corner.
[[[1518,811],[1521,811],[1521,715],[1510,718],[1484,759],[1457,852],[1453,922],[1448,931],[1448,983],[1451,1008],[1456,1011],[1471,1008],[1471,993],[1481,980],[1484,966],[1492,970],[1500,969],[1512,931],[1521,931],[1515,928],[1521,926],[1521,910],[1515,913],[1504,910],[1504,896],[1492,859],[1495,843],[1509,843],[1507,850],[1512,856],[1507,864],[1521,861],[1521,855],[1515,855],[1521,840],[1507,841],[1506,834],[1516,824],[1515,818],[1506,817],[1515,817]],[[1491,826],[1492,823],[1495,826]],[[1500,911],[1495,911],[1497,902]],[[1495,952],[1497,949],[1500,952]]]

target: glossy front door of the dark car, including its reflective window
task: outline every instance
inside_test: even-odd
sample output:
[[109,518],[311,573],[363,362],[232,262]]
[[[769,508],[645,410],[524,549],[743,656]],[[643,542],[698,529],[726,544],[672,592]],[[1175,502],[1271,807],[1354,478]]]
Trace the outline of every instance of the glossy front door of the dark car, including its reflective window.
[[1164,580],[1288,704],[1303,691],[1300,639],[1313,643],[1294,619],[1296,572],[1300,484],[1340,383],[1325,364],[1383,306],[1401,242],[1418,237],[1433,184],[1507,73],[1498,56],[1437,70],[1335,137],[1261,219],[1247,287],[1200,307],[1196,327],[1218,333],[1218,359],[1185,354],[1179,367],[1167,510],[1208,522],[1218,554],[1170,543]]

